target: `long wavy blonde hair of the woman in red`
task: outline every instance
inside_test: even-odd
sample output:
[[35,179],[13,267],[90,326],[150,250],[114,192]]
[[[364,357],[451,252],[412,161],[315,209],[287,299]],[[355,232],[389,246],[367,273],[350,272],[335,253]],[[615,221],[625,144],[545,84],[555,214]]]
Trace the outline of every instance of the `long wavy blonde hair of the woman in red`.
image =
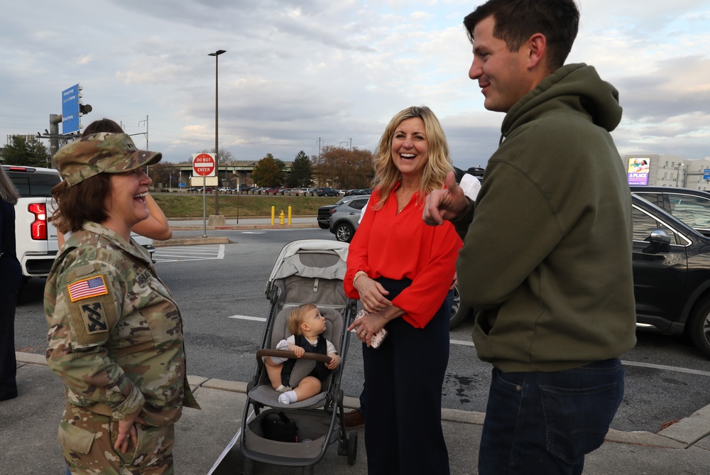
[[451,158],[449,158],[449,143],[447,143],[446,133],[432,109],[426,106],[413,106],[399,111],[387,124],[380,143],[373,153],[374,185],[379,188],[380,192],[380,201],[375,204],[378,209],[383,207],[397,182],[402,179],[402,175],[392,160],[392,138],[402,121],[414,117],[419,117],[424,121],[424,130],[429,144],[429,160],[420,181],[420,203],[424,203],[425,197],[430,192],[441,189],[444,186],[447,173],[454,169]]

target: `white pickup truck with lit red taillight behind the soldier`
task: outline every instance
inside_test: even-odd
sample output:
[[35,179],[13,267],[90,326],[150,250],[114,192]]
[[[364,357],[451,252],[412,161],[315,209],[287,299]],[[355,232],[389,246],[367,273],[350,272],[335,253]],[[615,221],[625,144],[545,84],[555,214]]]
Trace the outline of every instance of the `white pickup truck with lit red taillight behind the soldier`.
[[[61,180],[59,172],[21,165],[2,168],[20,192],[15,205],[15,241],[22,274],[26,279],[46,277],[59,251],[57,228],[47,219],[52,213],[52,187]],[[153,239],[135,233],[131,237],[153,256]]]

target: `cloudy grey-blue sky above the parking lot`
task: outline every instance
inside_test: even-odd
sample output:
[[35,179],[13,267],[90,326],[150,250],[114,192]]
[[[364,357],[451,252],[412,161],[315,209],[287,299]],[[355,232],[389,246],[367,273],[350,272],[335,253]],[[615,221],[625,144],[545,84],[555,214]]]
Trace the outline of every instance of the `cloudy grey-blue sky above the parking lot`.
[[[410,105],[439,116],[461,168],[486,165],[503,114],[467,73],[471,0],[94,0],[6,2],[0,134],[48,129],[61,92],[180,162],[214,147],[293,160],[321,146],[376,146]],[[710,156],[710,1],[582,0],[568,62],[620,92],[620,153]]]

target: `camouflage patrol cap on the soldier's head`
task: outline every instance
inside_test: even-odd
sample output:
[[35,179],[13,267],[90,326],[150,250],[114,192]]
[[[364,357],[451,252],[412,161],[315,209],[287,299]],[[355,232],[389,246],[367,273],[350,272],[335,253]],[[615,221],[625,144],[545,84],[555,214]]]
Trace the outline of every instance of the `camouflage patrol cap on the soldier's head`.
[[92,133],[54,155],[59,173],[74,186],[99,173],[124,173],[158,163],[163,154],[138,150],[126,133]]

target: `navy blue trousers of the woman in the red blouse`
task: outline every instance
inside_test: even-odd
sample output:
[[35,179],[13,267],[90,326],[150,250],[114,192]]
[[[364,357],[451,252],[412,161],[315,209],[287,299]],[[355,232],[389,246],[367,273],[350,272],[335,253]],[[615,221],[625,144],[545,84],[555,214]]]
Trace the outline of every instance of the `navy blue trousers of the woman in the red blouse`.
[[396,318],[378,349],[363,344],[368,475],[449,474],[441,407],[452,298],[425,328]]

